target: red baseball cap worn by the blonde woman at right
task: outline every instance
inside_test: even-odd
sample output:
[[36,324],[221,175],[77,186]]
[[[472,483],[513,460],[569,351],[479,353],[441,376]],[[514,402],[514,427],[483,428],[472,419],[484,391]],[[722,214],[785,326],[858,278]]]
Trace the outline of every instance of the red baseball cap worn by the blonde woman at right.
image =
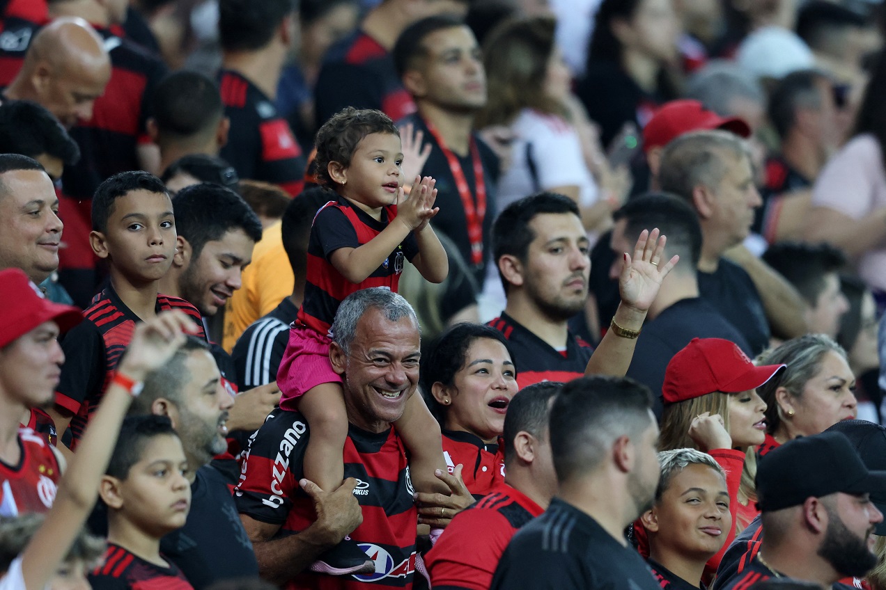
[[664,403],[682,402],[715,391],[737,394],[760,387],[786,364],[761,367],[734,342],[720,338],[693,338],[673,356],[664,371]]

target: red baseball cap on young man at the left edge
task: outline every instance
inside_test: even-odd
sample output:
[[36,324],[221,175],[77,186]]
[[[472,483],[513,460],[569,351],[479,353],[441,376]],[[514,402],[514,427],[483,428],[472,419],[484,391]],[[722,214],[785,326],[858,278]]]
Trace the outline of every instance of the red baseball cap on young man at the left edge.
[[0,348],[50,320],[64,333],[83,319],[70,305],[44,299],[24,271],[7,268],[0,271]]

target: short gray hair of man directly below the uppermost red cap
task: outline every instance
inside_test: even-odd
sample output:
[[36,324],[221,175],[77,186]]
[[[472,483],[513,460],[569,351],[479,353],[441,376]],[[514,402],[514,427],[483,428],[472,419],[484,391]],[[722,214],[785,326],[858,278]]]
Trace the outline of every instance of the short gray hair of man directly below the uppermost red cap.
[[694,204],[692,194],[697,187],[716,190],[731,167],[728,158],[743,157],[750,158],[747,142],[728,131],[680,135],[664,147],[658,183],[664,192]]

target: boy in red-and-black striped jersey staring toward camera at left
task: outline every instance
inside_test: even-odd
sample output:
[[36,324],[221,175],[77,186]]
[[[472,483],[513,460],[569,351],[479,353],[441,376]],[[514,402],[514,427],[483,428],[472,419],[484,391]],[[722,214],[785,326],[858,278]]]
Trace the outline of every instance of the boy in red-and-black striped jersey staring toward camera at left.
[[[92,198],[89,241],[109,263],[109,284],[83,312],[86,321],[62,341],[67,362],[55,406],[48,410],[58,429],[71,427],[76,449],[83,429],[104,395],[136,323],[161,310],[182,310],[201,326],[199,311],[177,297],[159,295],[159,280],[175,254],[175,218],[163,183],[148,172],[121,172],[105,180]],[[62,448],[62,450],[66,450]]]

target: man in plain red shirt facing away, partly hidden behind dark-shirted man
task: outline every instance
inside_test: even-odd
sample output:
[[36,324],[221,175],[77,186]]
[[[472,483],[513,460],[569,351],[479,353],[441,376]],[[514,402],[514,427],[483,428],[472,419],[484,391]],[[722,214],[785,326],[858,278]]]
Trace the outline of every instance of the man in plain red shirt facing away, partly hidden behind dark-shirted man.
[[432,587],[488,590],[511,537],[548,508],[556,493],[548,410],[561,387],[562,383],[552,381],[535,383],[522,389],[508,404],[504,419],[505,481],[457,514],[424,556]]

